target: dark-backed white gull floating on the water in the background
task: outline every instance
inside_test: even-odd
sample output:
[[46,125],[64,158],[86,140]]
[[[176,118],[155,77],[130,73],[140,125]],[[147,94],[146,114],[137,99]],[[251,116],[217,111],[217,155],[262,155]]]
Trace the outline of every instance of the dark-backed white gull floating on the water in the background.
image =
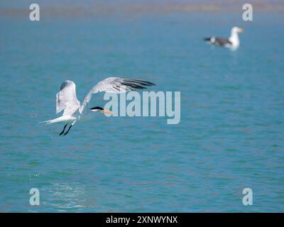
[[210,38],[204,38],[204,41],[213,45],[236,49],[239,48],[240,45],[238,34],[243,32],[244,32],[243,28],[234,27],[231,28],[231,36],[229,38],[219,38],[212,36]]

